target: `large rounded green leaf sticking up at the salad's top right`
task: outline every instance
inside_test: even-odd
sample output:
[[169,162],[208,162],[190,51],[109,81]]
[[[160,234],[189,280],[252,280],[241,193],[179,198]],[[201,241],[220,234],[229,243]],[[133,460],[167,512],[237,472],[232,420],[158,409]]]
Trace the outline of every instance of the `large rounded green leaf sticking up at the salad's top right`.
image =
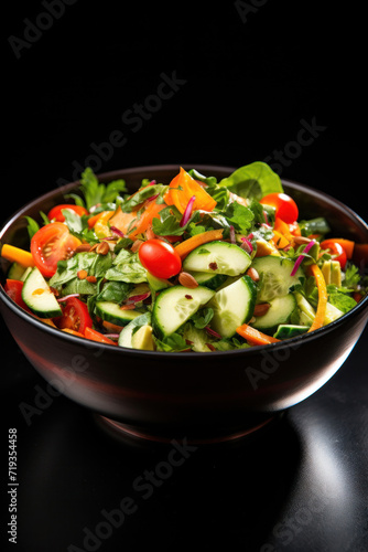
[[225,185],[230,192],[241,198],[262,199],[268,193],[283,192],[279,174],[262,161],[255,161],[235,170],[224,178],[219,185]]

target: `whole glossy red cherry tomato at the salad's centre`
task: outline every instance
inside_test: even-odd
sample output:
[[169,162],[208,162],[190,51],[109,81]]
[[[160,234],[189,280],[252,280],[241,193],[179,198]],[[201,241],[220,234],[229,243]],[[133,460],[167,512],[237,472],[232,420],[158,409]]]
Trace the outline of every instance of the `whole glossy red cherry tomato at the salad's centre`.
[[172,245],[162,240],[148,240],[138,251],[139,259],[156,278],[171,278],[180,273],[182,259]]

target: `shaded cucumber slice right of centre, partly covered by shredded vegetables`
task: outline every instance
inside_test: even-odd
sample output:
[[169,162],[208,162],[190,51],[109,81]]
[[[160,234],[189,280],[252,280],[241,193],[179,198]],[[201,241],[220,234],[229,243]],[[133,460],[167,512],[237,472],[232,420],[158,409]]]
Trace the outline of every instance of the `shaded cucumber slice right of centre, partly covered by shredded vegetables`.
[[260,275],[258,301],[269,302],[275,297],[288,295],[289,289],[295,284],[300,284],[304,277],[302,268],[299,268],[295,276],[291,276],[294,262],[275,255],[253,258],[253,268]]

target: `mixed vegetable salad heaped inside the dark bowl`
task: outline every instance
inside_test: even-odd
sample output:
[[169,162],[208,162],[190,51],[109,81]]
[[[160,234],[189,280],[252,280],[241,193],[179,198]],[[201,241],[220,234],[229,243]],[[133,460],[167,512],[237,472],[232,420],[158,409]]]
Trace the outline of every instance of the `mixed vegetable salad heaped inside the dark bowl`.
[[368,244],[300,220],[277,173],[253,162],[217,180],[178,168],[169,183],[99,182],[36,221],[30,250],[4,244],[4,289],[45,323],[149,351],[212,352],[322,328],[368,290]]

